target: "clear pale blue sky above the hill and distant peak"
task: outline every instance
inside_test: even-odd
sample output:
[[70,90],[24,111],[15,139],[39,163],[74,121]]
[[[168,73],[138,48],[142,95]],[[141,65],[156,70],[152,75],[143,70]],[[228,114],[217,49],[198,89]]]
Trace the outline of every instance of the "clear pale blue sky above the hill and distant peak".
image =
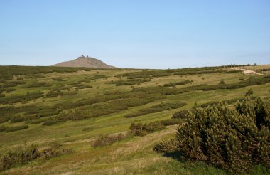
[[0,0],[0,65],[270,63],[269,0]]

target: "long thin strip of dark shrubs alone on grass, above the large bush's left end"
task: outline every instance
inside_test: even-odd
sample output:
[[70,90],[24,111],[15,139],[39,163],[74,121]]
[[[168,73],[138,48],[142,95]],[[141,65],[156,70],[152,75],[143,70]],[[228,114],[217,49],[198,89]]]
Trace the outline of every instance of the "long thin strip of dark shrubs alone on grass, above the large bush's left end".
[[150,113],[155,113],[155,112],[161,112],[163,110],[171,110],[171,109],[176,109],[179,107],[183,107],[184,105],[187,105],[185,102],[177,102],[177,103],[161,103],[159,105],[154,105],[146,109],[142,109],[133,113],[130,113],[128,115],[125,115],[126,118],[129,117],[136,117],[140,115],[147,115]]

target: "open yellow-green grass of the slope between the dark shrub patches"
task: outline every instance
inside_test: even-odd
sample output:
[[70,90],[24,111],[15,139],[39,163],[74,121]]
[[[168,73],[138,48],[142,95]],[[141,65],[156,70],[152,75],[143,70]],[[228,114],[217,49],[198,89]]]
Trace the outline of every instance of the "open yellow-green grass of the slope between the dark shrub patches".
[[[264,68],[267,66],[264,65]],[[259,67],[258,67],[259,68]],[[267,67],[268,68],[268,67]],[[145,100],[149,95],[152,95],[150,90],[148,94],[141,94],[140,97],[131,92],[136,88],[158,88],[168,83],[176,83],[184,80],[192,80],[192,83],[185,85],[176,85],[168,90],[178,90],[195,85],[218,85],[223,79],[226,84],[239,83],[242,80],[247,80],[250,77],[261,78],[262,75],[244,75],[242,72],[226,73],[229,68],[215,68],[216,70],[224,70],[224,72],[213,73],[194,73],[183,75],[161,75],[166,73],[166,70],[148,70],[153,71],[154,76],[150,76],[151,80],[132,85],[115,85],[115,81],[130,80],[127,73],[136,73],[146,70],[132,69],[115,69],[115,70],[76,70],[73,72],[51,72],[39,73],[38,76],[31,78],[27,75],[13,75],[12,79],[2,80],[0,85],[6,87],[12,81],[22,79],[25,84],[18,84],[11,88],[15,89],[12,92],[2,90],[4,97],[0,96],[0,108],[34,106],[41,109],[51,107],[55,111],[66,112],[68,115],[70,110],[72,115],[80,111],[83,118],[78,120],[61,120],[52,125],[44,125],[45,121],[53,120],[58,117],[58,113],[52,115],[41,115],[37,110],[27,113],[26,110],[11,110],[11,112],[0,113],[0,119],[4,118],[7,121],[1,122],[0,126],[16,127],[23,124],[28,125],[28,129],[21,129],[15,132],[0,132],[0,154],[6,154],[10,149],[27,143],[28,145],[36,143],[38,147],[46,148],[52,142],[63,144],[63,147],[72,149],[72,153],[65,154],[60,157],[55,157],[48,160],[29,161],[23,166],[16,166],[6,171],[1,171],[0,174],[226,174],[225,171],[212,166],[207,166],[200,162],[191,162],[178,160],[173,156],[164,156],[153,151],[153,145],[161,140],[173,137],[177,126],[168,126],[158,132],[147,134],[144,137],[129,136],[119,142],[105,147],[92,147],[92,142],[101,134],[117,134],[129,133],[129,126],[132,122],[148,123],[157,120],[166,120],[178,112],[180,109],[190,109],[195,105],[201,105],[206,102],[232,100],[245,97],[249,89],[253,90],[253,97],[270,98],[270,83],[260,85],[247,85],[242,88],[234,89],[216,89],[216,90],[189,90],[188,92],[178,93],[175,95],[156,95],[155,100],[151,100],[141,105],[128,105],[123,107],[123,110],[114,111],[108,110],[102,115],[98,109],[102,107],[109,108],[114,105],[117,100],[136,99]],[[269,68],[270,69],[270,68]],[[157,74],[155,71],[160,71]],[[178,70],[175,70],[178,71]],[[197,71],[197,70],[196,70]],[[156,73],[156,74],[155,74]],[[39,82],[39,84],[37,83]],[[42,83],[40,83],[42,82]],[[124,82],[124,81],[123,81]],[[35,87],[35,83],[38,84]],[[45,84],[44,84],[45,83]],[[79,85],[80,84],[80,85]],[[7,88],[10,89],[10,88]],[[53,91],[60,95],[47,96],[48,92]],[[29,100],[29,94],[35,92],[43,92],[43,97],[37,97]],[[121,94],[109,95],[112,93]],[[0,94],[1,95],[1,94]],[[126,95],[126,96],[123,96]],[[26,96],[26,97],[25,97]],[[99,97],[102,96],[102,97]],[[23,102],[11,101],[13,98],[25,98]],[[105,99],[105,97],[114,97]],[[97,102],[89,104],[78,104],[79,100],[89,101],[91,99],[99,99]],[[187,105],[178,109],[163,110],[161,112],[149,113],[137,117],[126,118],[125,115],[131,112],[136,112],[141,109],[146,109],[153,105],[163,103],[185,102]],[[67,109],[58,109],[57,105],[64,104]],[[74,105],[75,107],[72,107]],[[124,104],[125,105],[125,104]],[[71,106],[71,108],[69,107]],[[5,108],[6,109],[6,108]],[[13,109],[13,108],[12,108]],[[28,108],[27,108],[28,109]],[[102,111],[102,112],[104,112]],[[110,112],[112,111],[112,112]],[[99,115],[99,113],[101,115]],[[11,122],[11,117],[21,115],[21,122]],[[86,117],[89,115],[89,117]],[[41,122],[37,122],[41,121]],[[87,128],[87,129],[85,129]],[[249,174],[267,174],[269,169],[262,166],[257,166],[256,169],[250,171]]]

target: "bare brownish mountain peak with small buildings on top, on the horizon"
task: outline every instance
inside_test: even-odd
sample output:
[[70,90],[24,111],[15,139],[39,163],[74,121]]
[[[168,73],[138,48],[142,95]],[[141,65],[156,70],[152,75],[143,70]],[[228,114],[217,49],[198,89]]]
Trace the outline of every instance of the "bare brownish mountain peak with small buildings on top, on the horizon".
[[74,68],[114,68],[112,65],[107,65],[106,63],[102,62],[101,60],[98,60],[96,58],[88,57],[88,55],[85,57],[84,55],[81,55],[75,60],[66,61],[63,63],[58,63],[52,66],[56,67],[74,67]]

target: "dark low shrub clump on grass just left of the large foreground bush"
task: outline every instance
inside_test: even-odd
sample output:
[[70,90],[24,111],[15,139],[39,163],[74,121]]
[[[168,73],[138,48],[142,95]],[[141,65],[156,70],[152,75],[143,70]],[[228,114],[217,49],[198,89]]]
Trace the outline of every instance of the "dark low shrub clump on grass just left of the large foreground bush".
[[132,123],[129,127],[130,132],[134,136],[144,136],[146,134],[157,132],[161,129],[164,129],[164,126],[161,122],[150,122],[148,124]]

